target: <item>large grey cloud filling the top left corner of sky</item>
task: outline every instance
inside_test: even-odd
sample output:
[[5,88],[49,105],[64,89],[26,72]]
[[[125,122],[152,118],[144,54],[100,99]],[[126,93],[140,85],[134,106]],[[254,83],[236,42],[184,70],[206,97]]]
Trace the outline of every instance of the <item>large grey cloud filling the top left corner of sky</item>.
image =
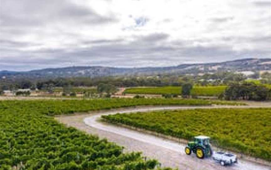
[[92,8],[68,0],[2,0],[1,27],[33,27],[70,22],[73,24],[103,24],[115,22],[114,16],[102,16]]

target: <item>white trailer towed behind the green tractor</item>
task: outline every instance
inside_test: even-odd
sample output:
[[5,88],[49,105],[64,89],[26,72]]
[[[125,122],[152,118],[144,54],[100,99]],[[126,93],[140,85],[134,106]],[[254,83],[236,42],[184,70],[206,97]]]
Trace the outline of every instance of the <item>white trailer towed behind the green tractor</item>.
[[234,163],[238,162],[236,155],[232,153],[225,153],[223,151],[218,152],[213,151],[212,157],[216,162],[220,162],[220,164],[223,166],[233,165]]

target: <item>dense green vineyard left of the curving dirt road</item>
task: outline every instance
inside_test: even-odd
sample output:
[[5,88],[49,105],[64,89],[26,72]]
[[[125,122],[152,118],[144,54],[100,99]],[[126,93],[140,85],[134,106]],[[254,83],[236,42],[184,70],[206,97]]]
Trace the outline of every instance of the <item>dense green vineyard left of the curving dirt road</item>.
[[66,127],[53,115],[138,105],[210,104],[180,99],[0,101],[0,169],[11,169],[21,162],[28,170],[152,169],[157,161],[144,162],[139,153],[124,154],[121,146]]

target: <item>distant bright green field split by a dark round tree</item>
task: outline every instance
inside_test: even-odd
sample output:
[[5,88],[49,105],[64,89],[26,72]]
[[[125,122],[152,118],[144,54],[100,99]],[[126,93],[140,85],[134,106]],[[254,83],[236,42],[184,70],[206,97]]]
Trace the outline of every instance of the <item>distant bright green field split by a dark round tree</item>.
[[[195,96],[219,96],[224,92],[226,86],[194,86],[191,95]],[[128,88],[125,93],[132,94],[181,94],[181,87],[149,87],[149,88]]]

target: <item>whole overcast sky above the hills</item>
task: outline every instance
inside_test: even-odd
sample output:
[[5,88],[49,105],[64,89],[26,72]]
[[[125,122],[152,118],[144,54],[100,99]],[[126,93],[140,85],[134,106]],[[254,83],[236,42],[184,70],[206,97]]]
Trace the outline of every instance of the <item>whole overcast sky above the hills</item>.
[[0,70],[271,58],[271,0],[0,0]]

